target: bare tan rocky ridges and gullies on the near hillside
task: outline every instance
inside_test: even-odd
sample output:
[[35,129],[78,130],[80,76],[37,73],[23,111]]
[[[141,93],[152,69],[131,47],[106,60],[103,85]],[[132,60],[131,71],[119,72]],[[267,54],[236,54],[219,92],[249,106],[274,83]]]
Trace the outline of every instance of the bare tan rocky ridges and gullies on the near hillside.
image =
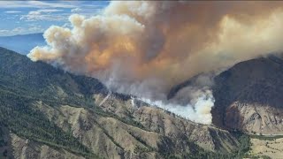
[[[95,95],[101,103],[107,95]],[[98,108],[54,108],[34,102],[34,108],[105,158],[163,158],[163,153],[189,154],[192,145],[211,152],[231,152],[239,146],[229,132],[198,125],[156,107],[136,107],[132,98],[111,95]]]

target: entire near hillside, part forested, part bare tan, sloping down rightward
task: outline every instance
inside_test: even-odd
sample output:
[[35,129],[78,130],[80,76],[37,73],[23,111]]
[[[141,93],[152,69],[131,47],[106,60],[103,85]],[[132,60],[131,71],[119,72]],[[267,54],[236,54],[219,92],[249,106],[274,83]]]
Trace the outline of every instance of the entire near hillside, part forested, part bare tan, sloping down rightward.
[[219,158],[249,150],[241,133],[195,124],[8,49],[0,49],[0,74],[4,158]]

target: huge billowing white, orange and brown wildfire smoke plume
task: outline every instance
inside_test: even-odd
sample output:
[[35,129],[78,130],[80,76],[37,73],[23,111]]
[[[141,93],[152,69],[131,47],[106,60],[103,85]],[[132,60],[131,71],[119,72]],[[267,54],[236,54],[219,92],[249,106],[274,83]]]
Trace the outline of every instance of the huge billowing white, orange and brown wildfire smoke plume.
[[[172,86],[200,72],[283,49],[282,2],[111,2],[101,15],[50,27],[28,57],[101,79],[196,122],[210,124],[210,88],[166,101]],[[193,93],[195,90],[197,93]],[[186,92],[186,91],[185,91]],[[201,93],[201,94],[199,94]],[[188,95],[189,94],[189,95]],[[187,106],[187,107],[184,107]]]

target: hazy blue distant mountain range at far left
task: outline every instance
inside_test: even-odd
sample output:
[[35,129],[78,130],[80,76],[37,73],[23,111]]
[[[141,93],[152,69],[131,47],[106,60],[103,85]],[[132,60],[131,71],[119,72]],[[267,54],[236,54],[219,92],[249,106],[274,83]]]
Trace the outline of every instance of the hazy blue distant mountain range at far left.
[[46,42],[42,33],[0,36],[0,47],[11,49],[23,55],[27,55],[34,47],[45,44]]

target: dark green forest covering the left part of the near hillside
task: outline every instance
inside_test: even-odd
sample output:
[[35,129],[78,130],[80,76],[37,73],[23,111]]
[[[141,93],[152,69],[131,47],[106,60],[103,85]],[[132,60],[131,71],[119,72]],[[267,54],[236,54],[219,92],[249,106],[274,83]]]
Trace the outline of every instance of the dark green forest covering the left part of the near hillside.
[[[103,92],[105,87],[96,79],[75,76],[42,62],[34,63],[10,50],[0,48],[0,52],[0,125],[19,137],[52,148],[64,148],[90,158],[96,156],[71,132],[63,131],[35,110],[33,103],[90,108],[93,100],[89,100],[89,95]],[[0,145],[5,145],[2,130]]]

